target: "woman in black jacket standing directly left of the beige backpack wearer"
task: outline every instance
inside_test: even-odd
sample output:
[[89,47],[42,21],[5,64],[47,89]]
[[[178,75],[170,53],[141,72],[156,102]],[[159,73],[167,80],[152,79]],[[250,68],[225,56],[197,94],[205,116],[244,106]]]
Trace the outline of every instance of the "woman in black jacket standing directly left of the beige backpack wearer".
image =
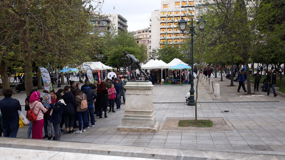
[[73,134],[75,130],[73,130],[74,125],[74,104],[75,98],[72,92],[70,92],[70,87],[65,86],[63,89],[64,95],[62,95],[61,99],[64,100],[66,106],[63,107],[62,116],[64,116],[64,124],[66,128],[66,134]]

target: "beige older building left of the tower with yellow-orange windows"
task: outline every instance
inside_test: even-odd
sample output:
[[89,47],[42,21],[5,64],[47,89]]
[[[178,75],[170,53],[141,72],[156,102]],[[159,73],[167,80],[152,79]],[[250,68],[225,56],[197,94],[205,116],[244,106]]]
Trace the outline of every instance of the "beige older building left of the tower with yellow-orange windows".
[[137,31],[132,32],[133,36],[137,39],[137,44],[144,44],[145,46],[145,54],[147,55],[147,58],[144,62],[141,63],[147,63],[151,56],[151,28],[144,28]]

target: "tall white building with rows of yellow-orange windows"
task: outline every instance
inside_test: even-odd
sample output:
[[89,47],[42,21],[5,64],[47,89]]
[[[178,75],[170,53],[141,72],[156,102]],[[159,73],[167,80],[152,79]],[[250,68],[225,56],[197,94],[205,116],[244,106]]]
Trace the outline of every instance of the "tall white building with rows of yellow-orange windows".
[[173,43],[183,42],[186,37],[178,29],[180,19],[190,21],[196,17],[196,2],[194,0],[168,0],[161,1],[160,9],[151,12],[151,48],[152,50],[161,48],[161,42]]

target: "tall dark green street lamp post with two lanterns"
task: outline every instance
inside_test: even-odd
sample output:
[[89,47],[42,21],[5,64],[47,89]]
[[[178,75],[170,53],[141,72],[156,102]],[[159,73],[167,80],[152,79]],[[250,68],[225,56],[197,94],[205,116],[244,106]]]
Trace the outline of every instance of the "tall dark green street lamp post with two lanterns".
[[[204,20],[202,17],[201,19],[199,19],[198,21],[198,24],[199,24],[199,29],[200,30],[203,30],[205,28],[205,24],[206,24],[206,20]],[[190,82],[190,85],[191,85],[191,88],[190,88],[190,98],[189,98],[189,101],[187,103],[188,106],[195,106],[195,99],[194,99],[194,77],[193,77],[193,43],[194,43],[194,33],[195,33],[195,30],[194,30],[194,26],[193,26],[193,18],[191,19],[191,29],[190,29],[190,33],[188,34],[185,34],[184,31],[186,29],[186,25],[187,25],[187,21],[184,20],[183,18],[179,21],[178,23],[179,25],[179,28],[180,30],[182,31],[182,34],[184,35],[189,35],[191,34],[191,73],[189,74],[189,77],[191,76],[191,82]],[[197,33],[195,33],[197,34]],[[189,83],[188,83],[189,84]]]

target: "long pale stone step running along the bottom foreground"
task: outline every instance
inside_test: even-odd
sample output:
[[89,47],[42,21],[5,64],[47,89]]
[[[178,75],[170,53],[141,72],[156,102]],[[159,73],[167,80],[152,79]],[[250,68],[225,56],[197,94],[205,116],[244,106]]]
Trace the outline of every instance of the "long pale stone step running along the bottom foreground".
[[[0,137],[0,147],[34,149],[44,151],[111,155],[122,157],[165,159],[165,160],[284,160],[283,155],[236,153],[226,151],[206,151],[174,149],[162,147],[143,147],[134,145],[94,144],[66,141],[31,140]],[[3,153],[3,152],[1,152]]]

